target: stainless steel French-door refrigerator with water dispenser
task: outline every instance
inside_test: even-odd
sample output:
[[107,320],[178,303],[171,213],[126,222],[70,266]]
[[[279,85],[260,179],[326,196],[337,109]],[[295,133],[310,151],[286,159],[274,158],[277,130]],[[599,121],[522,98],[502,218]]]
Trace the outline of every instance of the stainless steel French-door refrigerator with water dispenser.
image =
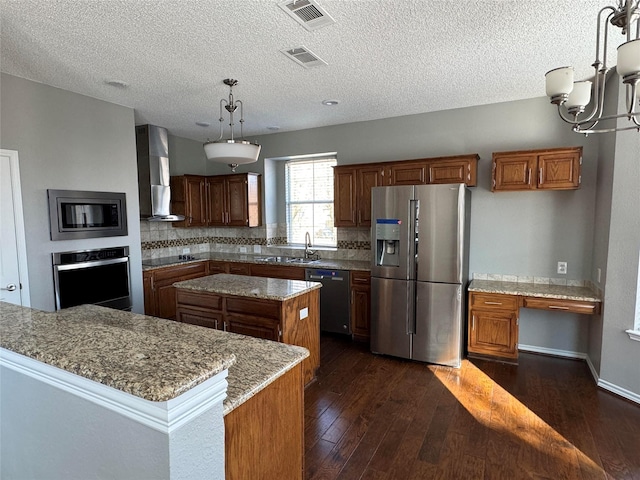
[[459,367],[470,192],[464,184],[374,187],[371,351]]

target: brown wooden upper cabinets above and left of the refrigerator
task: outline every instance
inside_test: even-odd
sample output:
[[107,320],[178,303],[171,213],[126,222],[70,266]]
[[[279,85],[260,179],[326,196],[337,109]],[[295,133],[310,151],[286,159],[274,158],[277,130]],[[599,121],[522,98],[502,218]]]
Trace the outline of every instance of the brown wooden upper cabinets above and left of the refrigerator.
[[336,227],[371,226],[371,189],[385,185],[476,185],[477,154],[398,162],[338,165],[333,170]]

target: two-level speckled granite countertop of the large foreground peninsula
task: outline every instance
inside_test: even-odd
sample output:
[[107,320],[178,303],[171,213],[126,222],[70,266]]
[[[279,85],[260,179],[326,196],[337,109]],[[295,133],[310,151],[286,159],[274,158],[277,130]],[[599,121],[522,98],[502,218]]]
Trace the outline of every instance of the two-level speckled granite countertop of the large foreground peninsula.
[[226,415],[309,356],[271,342],[97,305],[42,312],[0,302],[0,347],[146,400],[224,369]]

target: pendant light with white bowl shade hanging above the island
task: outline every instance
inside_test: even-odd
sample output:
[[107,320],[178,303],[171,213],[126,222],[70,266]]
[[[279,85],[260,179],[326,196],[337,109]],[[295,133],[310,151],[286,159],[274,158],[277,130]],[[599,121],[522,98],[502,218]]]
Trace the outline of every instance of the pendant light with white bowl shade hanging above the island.
[[[208,141],[204,144],[204,153],[207,155],[207,159],[212,162],[226,163],[231,167],[231,171],[235,172],[238,165],[246,163],[253,163],[258,160],[260,154],[260,145],[251,143],[244,139],[242,132],[242,125],[244,124],[244,114],[242,112],[242,102],[240,100],[233,99],[233,87],[238,84],[237,80],[227,78],[223,81],[225,85],[229,86],[229,99],[224,98],[220,100],[220,137],[215,141]],[[240,107],[240,138],[241,140],[234,139],[233,136],[233,114]],[[223,113],[222,109],[229,112],[229,126],[231,127],[231,138],[223,140]]]

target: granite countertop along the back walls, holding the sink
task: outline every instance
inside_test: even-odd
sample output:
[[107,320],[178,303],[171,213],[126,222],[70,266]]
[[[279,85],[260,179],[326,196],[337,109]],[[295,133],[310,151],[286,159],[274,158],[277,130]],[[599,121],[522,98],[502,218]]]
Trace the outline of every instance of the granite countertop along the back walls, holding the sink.
[[214,260],[217,262],[236,262],[236,263],[258,263],[258,264],[266,264],[266,265],[281,265],[281,266],[292,266],[292,267],[304,267],[304,268],[326,268],[326,269],[334,269],[334,270],[360,270],[360,271],[370,271],[371,263],[369,261],[363,260],[337,260],[337,259],[324,259],[321,258],[312,263],[302,263],[302,262],[272,262],[264,260],[266,257],[276,256],[269,254],[256,254],[249,255],[246,253],[201,253],[193,255],[194,258],[181,258],[180,256],[174,257],[163,257],[163,258],[154,258],[151,260],[143,260],[142,261],[142,270],[155,270],[157,268],[162,267],[170,267],[174,265],[182,265],[186,263],[194,263],[194,262],[202,262],[208,260]]

